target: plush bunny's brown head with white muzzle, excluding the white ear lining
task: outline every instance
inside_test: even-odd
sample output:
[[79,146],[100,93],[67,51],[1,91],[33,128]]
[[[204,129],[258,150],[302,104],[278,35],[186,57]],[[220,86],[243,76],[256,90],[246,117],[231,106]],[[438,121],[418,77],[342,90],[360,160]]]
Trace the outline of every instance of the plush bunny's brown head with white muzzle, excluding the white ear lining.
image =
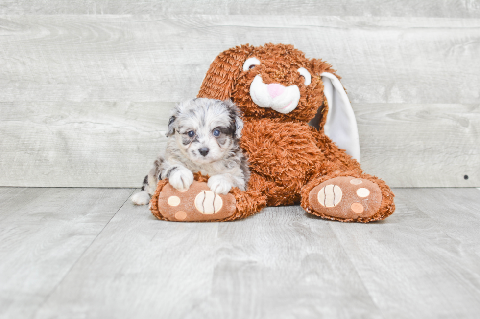
[[[325,71],[333,72],[329,64],[305,58],[293,45],[242,45],[215,59],[199,96],[231,98],[245,116],[309,122],[323,104],[320,74]],[[212,90],[213,84],[220,84],[213,79],[219,80],[224,89]]]

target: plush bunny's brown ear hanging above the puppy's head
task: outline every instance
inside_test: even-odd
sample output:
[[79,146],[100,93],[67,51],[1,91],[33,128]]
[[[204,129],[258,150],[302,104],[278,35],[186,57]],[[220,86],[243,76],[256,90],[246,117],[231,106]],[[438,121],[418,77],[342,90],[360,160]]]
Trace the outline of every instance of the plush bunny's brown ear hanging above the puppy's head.
[[253,46],[245,44],[220,53],[210,64],[197,97],[217,100],[230,98],[243,63],[253,50]]

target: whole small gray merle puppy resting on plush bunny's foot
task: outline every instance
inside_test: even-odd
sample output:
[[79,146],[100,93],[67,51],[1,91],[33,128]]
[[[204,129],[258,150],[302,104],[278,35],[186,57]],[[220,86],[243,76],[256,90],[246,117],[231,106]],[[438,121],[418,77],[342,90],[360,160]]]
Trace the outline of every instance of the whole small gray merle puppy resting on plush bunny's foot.
[[186,190],[198,171],[210,176],[211,191],[226,194],[232,187],[244,191],[250,171],[238,145],[242,128],[240,110],[230,100],[196,98],[178,104],[168,121],[165,154],[155,160],[132,201],[147,204],[159,179]]

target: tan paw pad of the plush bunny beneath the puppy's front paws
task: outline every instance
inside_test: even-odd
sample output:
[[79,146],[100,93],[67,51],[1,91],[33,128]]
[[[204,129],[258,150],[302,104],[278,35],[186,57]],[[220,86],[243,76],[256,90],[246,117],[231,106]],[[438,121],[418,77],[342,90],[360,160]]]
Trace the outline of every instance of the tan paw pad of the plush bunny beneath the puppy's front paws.
[[207,183],[193,181],[187,191],[178,191],[170,184],[158,196],[158,211],[170,221],[215,221],[235,213],[234,195],[216,194]]

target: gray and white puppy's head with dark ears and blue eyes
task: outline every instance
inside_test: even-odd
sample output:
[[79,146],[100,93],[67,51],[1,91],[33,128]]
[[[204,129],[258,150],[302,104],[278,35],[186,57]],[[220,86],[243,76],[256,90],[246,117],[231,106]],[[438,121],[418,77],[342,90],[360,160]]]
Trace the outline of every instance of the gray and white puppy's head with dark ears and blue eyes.
[[242,128],[240,110],[230,100],[196,98],[175,106],[166,135],[189,160],[205,164],[227,155]]

